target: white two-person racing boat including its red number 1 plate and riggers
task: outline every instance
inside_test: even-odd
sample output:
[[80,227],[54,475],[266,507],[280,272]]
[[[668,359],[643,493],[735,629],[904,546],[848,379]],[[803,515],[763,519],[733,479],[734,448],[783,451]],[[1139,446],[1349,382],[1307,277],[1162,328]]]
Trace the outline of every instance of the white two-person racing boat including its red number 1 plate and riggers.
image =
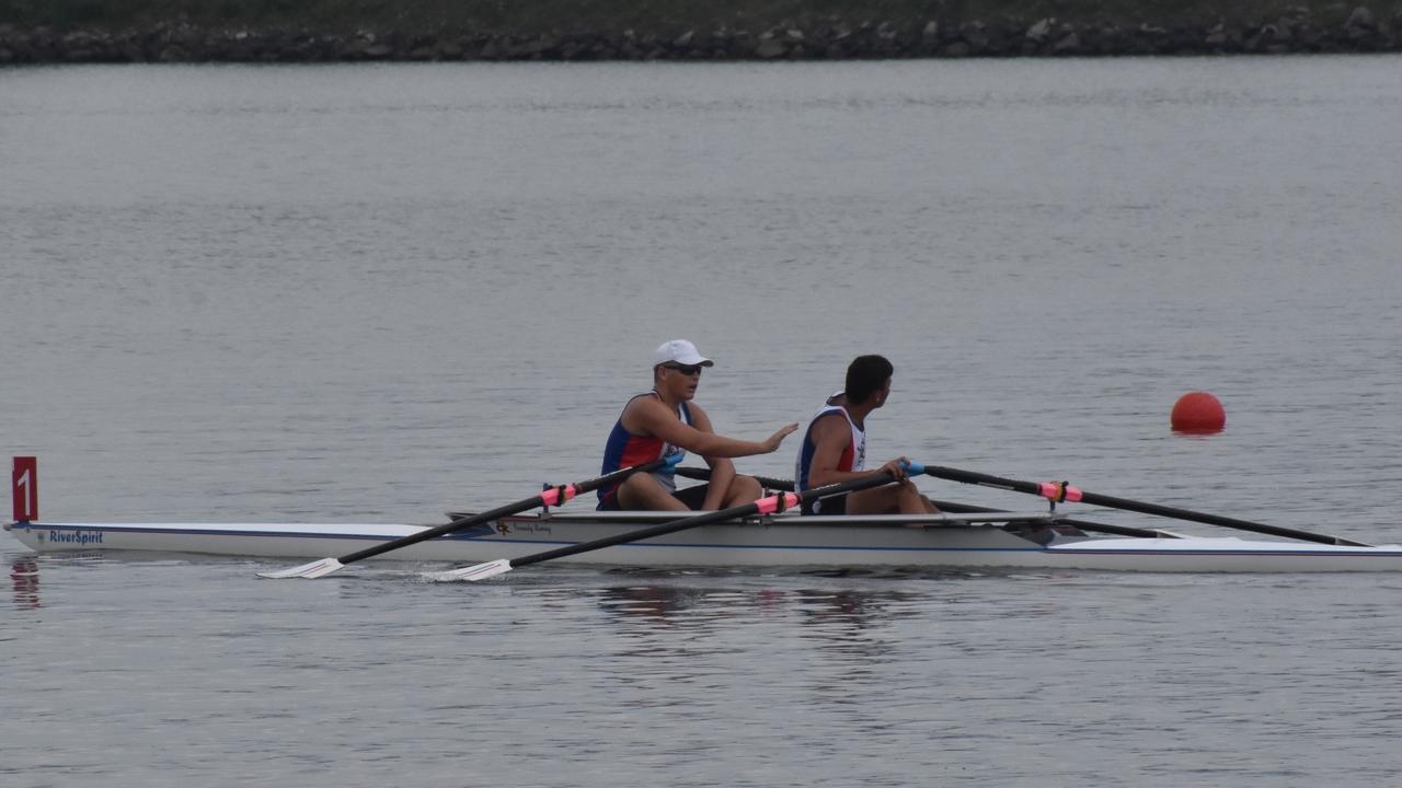
[[[342,555],[339,561],[328,558],[268,576],[321,576],[339,569],[342,562],[363,557],[505,565],[485,575],[464,569],[440,572],[435,575],[439,579],[479,579],[508,571],[508,564],[519,566],[557,558],[631,566],[1402,571],[1402,545],[1374,547],[1336,537],[1267,541],[1185,536],[1073,520],[1061,510],[803,517],[794,512],[775,512],[782,502],[771,506],[756,502],[749,506],[757,508],[754,512],[693,513],[700,516],[691,517],[660,512],[564,512],[548,508],[534,513],[506,513],[509,509],[537,509],[541,502],[568,501],[590,485],[599,487],[594,484],[599,480],[547,491],[502,510],[450,515],[451,522],[442,526],[43,522],[38,517],[34,495],[32,458],[25,458],[29,463],[24,468],[18,460],[14,474],[15,519],[6,524],[6,530],[39,552],[158,551],[278,559]],[[784,495],[774,498],[782,499]],[[792,506],[796,496],[788,494],[788,498]],[[939,503],[944,506],[946,502]],[[707,522],[693,526],[686,524],[688,520]],[[1087,533],[1096,530],[1138,536]],[[1322,544],[1325,540],[1333,543]],[[314,571],[310,569],[313,566]]]

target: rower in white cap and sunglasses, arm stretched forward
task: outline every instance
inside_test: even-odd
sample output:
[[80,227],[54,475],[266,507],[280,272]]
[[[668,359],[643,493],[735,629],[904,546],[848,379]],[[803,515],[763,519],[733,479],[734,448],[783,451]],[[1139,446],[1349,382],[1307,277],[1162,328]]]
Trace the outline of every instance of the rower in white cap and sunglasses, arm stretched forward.
[[652,352],[652,391],[637,394],[624,405],[608,435],[603,463],[603,473],[608,474],[679,451],[695,451],[711,466],[709,484],[677,491],[672,474],[632,474],[599,491],[600,509],[728,509],[763,495],[758,481],[736,475],[729,457],[768,454],[798,425],[787,425],[763,442],[716,435],[709,416],[691,401],[701,370],[714,365],[686,339],[659,345]]

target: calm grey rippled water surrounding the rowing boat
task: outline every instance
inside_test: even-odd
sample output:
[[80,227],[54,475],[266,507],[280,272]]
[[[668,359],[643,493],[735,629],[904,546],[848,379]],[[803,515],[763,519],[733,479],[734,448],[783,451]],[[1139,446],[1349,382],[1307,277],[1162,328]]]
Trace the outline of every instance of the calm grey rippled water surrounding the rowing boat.
[[[436,522],[593,475],[687,337],[723,432],[883,352],[879,457],[1402,541],[1399,70],[3,70],[0,449],[48,519]],[[1402,578],[0,554],[7,787],[1402,768]]]

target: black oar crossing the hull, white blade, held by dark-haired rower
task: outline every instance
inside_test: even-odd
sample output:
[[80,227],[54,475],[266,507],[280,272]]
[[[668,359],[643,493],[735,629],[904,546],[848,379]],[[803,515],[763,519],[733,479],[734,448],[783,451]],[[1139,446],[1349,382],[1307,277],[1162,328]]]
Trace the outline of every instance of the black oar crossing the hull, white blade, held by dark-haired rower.
[[615,544],[624,544],[628,541],[639,541],[644,538],[652,538],[655,536],[670,534],[676,531],[684,531],[687,529],[694,529],[697,526],[708,526],[711,523],[719,523],[722,520],[733,520],[739,517],[749,517],[751,515],[773,515],[775,512],[784,512],[794,506],[802,506],[809,501],[816,498],[829,498],[833,495],[841,495],[844,492],[854,492],[858,489],[866,489],[869,487],[880,487],[883,484],[890,484],[894,477],[890,474],[876,474],[866,478],[845,481],[840,484],[830,484],[826,487],[815,487],[813,489],[805,489],[803,492],[781,492],[778,495],[770,495],[768,498],[760,498],[750,503],[742,506],[733,506],[730,509],[719,509],[716,512],[707,512],[704,515],[695,515],[693,517],[683,517],[680,520],[672,520],[669,523],[660,523],[648,529],[628,531],[624,534],[610,536],[604,538],[596,538],[594,541],[585,541],[580,544],[571,544],[568,547],[557,547],[555,550],[547,550],[545,552],[536,552],[524,558],[499,558],[496,561],[488,561],[486,564],[475,564],[472,566],[463,566],[461,569],[449,569],[447,572],[432,572],[423,576],[435,580],[485,580],[486,578],[495,578],[510,572],[512,569],[519,569],[522,566],[529,566],[531,564],[540,564],[541,561],[551,561],[554,558],[564,558],[566,555],[576,555],[579,552],[589,552],[590,550],[603,550],[604,547],[613,547]]

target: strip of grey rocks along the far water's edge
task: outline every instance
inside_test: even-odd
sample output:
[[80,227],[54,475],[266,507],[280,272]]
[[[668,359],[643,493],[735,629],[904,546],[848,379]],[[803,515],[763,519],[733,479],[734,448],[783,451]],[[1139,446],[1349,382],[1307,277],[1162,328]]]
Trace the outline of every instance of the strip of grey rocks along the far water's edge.
[[1122,27],[1056,18],[1029,24],[781,21],[764,29],[660,35],[398,34],[349,35],[157,22],[149,29],[0,25],[0,63],[262,63],[365,60],[840,60],[1122,55],[1284,55],[1402,52],[1402,11],[1377,20],[1354,8],[1342,25],[1307,15],[1269,22]]

